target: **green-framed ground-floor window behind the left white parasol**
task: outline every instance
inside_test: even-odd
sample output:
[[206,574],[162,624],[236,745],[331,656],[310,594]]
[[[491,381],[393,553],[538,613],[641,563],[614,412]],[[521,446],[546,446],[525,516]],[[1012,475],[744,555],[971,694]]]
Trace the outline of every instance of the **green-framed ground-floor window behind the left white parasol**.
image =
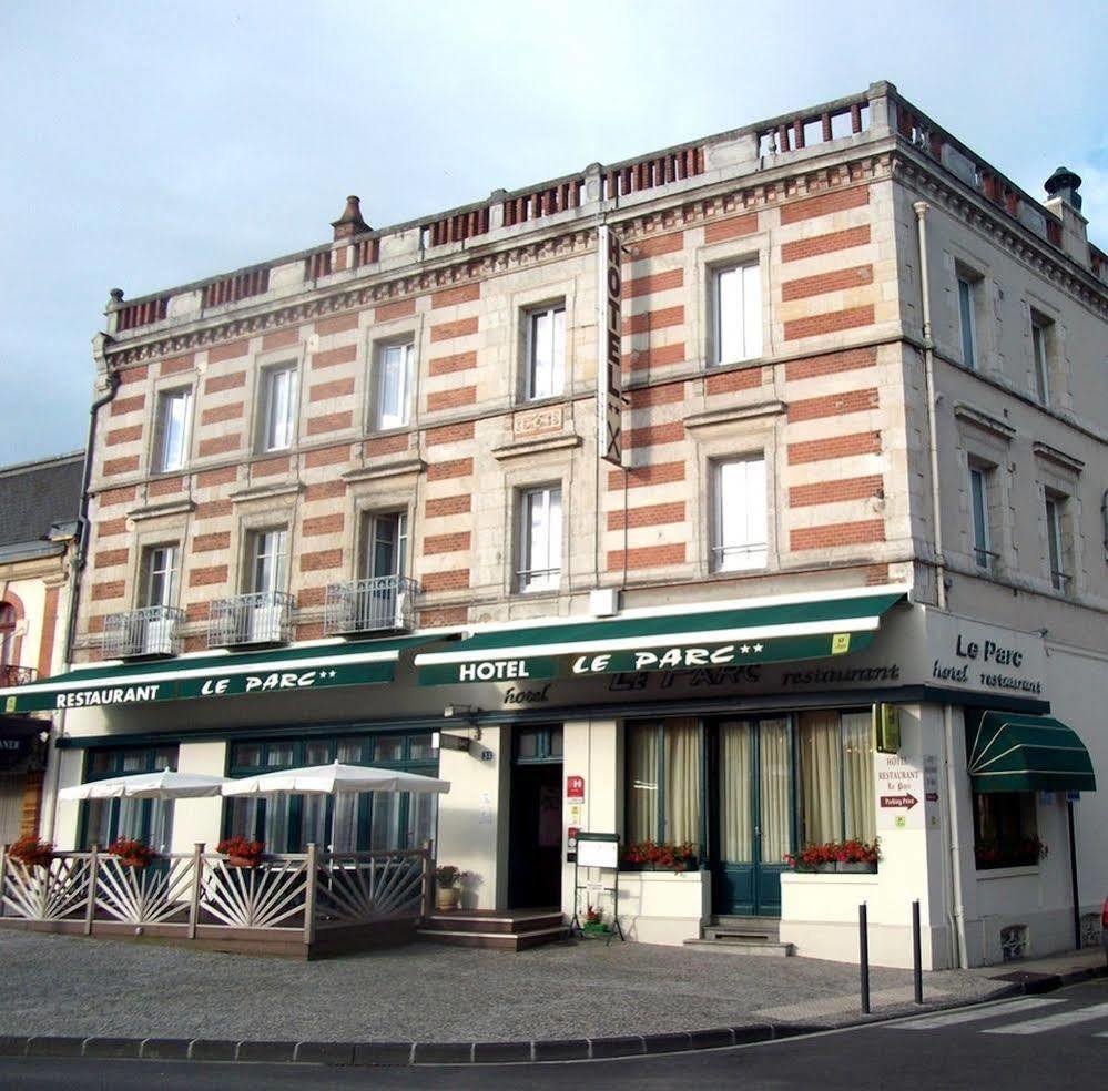
[[[90,750],[85,781],[132,773],[156,773],[177,767],[176,746]],[[90,799],[81,805],[80,844],[106,848],[115,838],[142,840],[155,852],[167,853],[173,832],[173,802],[165,799]]]

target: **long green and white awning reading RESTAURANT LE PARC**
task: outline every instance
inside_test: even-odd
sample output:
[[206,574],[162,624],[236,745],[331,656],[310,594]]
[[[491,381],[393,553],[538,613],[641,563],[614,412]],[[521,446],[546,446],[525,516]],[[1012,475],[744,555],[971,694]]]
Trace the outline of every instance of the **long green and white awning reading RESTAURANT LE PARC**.
[[261,652],[212,652],[141,663],[98,664],[28,685],[0,689],[0,711],[90,708],[392,682],[403,652],[453,635],[438,632]]

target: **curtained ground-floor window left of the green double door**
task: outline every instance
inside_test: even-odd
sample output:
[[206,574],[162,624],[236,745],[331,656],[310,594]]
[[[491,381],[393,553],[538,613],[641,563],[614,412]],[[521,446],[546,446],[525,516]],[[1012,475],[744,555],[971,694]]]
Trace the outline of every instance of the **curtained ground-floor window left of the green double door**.
[[627,843],[701,844],[702,741],[695,720],[628,724]]

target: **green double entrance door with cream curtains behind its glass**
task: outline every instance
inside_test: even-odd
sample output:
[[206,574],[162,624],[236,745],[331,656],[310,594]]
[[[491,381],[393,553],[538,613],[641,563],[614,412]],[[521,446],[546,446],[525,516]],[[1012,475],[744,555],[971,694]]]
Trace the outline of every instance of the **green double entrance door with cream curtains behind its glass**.
[[786,717],[716,725],[712,901],[716,914],[780,916],[793,842],[792,726]]

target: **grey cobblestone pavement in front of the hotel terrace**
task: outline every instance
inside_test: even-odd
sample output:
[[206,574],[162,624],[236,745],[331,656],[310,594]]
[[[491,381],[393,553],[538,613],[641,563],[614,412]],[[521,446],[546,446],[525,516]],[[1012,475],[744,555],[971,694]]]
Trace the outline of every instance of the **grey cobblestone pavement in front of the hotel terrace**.
[[[857,968],[805,958],[569,941],[521,954],[414,944],[317,962],[0,931],[0,1034],[505,1041],[857,1017]],[[875,1014],[911,973],[872,971]],[[932,973],[941,1005],[1006,982]],[[918,1010],[918,1009],[915,1009]]]

